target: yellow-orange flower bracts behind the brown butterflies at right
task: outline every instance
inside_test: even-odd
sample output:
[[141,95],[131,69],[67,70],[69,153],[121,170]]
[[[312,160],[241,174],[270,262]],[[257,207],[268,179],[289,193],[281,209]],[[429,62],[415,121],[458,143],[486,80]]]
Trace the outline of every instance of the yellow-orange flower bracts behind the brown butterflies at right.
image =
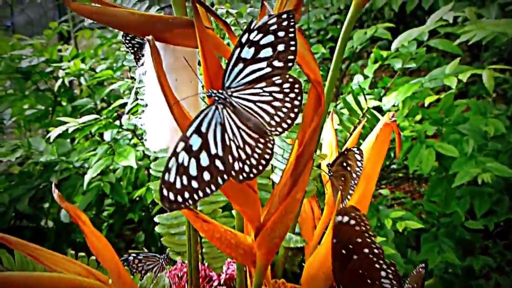
[[[363,213],[366,213],[368,211],[368,207],[370,206],[370,201],[373,192],[375,191],[375,185],[377,183],[378,175],[380,173],[380,168],[386,158],[386,153],[391,142],[393,131],[395,131],[395,134],[397,136],[397,155],[399,155],[400,141],[398,140],[398,138],[400,137],[400,134],[398,131],[398,126],[396,125],[396,121],[393,117],[394,113],[387,113],[380,120],[377,126],[375,126],[371,134],[360,146],[364,152],[363,169],[359,179],[359,183],[348,205],[356,206]],[[333,141],[337,142],[333,121],[334,118],[331,115],[331,117],[329,117],[329,120],[326,121],[326,124],[324,126],[324,129],[326,129],[326,131],[324,134],[324,141],[322,142],[322,144],[325,145],[325,147],[328,147],[326,149],[329,149],[325,151],[325,153],[328,156],[333,157],[332,159],[334,159],[338,154],[337,150],[331,150],[333,149],[333,147],[336,146],[334,145]],[[344,148],[355,146],[357,139],[360,135],[360,129],[362,128],[362,124],[364,123],[361,123],[358,129],[356,129],[354,135],[351,136],[351,138],[347,142],[346,147]],[[328,161],[332,160],[329,159]],[[327,183],[329,183],[329,181]],[[328,192],[330,191],[327,189],[328,185],[330,184],[326,184],[326,193],[332,193]],[[331,203],[333,203],[333,201],[331,201]],[[309,253],[312,254],[306,261],[303,276],[301,279],[301,282],[305,287],[310,287],[311,285],[315,287],[329,287],[334,280],[331,272],[331,238],[332,225],[334,219],[334,207],[328,210],[326,204],[326,209],[324,209],[324,214],[322,215],[322,219],[324,218],[329,219],[329,226],[318,248],[316,248],[314,252],[308,251]],[[322,227],[321,225],[318,225],[317,230],[315,231],[315,235],[323,234],[324,229],[325,226]],[[324,264],[317,265],[317,263]]]

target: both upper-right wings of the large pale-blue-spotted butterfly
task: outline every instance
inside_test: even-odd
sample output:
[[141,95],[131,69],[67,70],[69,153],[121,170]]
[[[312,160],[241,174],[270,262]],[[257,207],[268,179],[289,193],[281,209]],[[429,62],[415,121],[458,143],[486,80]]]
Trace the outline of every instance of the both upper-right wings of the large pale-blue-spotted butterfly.
[[272,135],[290,129],[302,106],[302,83],[287,73],[297,57],[292,10],[252,21],[233,48],[223,78],[233,102]]

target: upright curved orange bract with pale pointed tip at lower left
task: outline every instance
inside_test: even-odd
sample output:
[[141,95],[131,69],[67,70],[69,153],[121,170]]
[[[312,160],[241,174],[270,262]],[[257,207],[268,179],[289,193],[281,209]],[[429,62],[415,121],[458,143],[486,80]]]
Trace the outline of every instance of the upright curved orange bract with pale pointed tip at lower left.
[[71,219],[78,224],[82,230],[83,236],[86,238],[87,245],[98,258],[99,262],[109,272],[112,283],[116,287],[137,287],[132,281],[130,274],[124,269],[123,264],[119,261],[119,257],[110,245],[109,241],[96,230],[89,217],[76,206],[68,203],[65,198],[59,193],[55,185],[53,185],[53,197],[55,201],[62,207]]

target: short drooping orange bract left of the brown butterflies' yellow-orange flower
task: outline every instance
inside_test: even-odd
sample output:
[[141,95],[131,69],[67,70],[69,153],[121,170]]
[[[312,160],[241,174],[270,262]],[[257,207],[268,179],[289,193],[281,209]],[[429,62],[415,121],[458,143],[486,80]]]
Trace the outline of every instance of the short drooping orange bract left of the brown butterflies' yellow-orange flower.
[[[316,226],[320,221],[320,217],[322,215],[322,211],[320,210],[320,205],[318,204],[318,200],[315,195],[306,198],[302,203],[301,214],[298,216],[298,226],[301,228],[301,235],[306,240],[307,244],[304,248],[306,252],[306,260],[308,259],[311,253],[310,243],[313,240],[313,234],[315,232]],[[316,244],[314,245],[316,246]]]

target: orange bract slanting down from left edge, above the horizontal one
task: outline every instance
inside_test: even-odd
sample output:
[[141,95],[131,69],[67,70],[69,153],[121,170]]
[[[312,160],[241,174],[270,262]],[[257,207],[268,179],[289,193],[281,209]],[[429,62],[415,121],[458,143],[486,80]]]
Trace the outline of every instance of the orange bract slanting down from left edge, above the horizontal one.
[[[62,254],[3,233],[0,233],[0,243],[19,251],[23,255],[45,267],[48,271],[72,274],[94,280],[96,283],[100,282],[103,283],[103,285],[110,285],[109,278],[101,272]],[[0,273],[0,275],[4,275],[4,273]],[[0,285],[0,287],[10,286]]]

